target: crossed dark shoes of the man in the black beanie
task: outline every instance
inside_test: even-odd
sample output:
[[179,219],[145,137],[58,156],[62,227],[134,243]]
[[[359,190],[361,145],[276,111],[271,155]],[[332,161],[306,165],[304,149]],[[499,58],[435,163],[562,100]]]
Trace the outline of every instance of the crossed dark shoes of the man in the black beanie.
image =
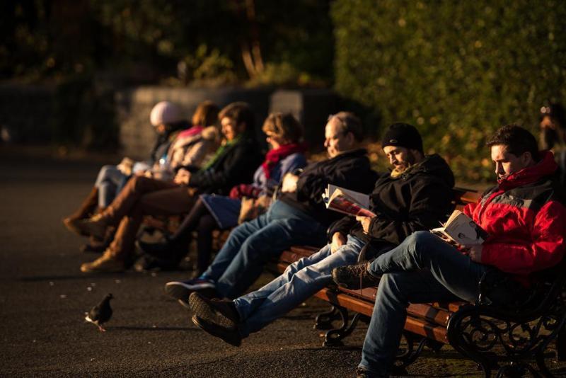
[[190,294],[189,304],[195,315],[192,322],[212,336],[221,338],[234,346],[240,346],[242,336],[238,331],[240,316],[232,301],[208,299],[194,292]]

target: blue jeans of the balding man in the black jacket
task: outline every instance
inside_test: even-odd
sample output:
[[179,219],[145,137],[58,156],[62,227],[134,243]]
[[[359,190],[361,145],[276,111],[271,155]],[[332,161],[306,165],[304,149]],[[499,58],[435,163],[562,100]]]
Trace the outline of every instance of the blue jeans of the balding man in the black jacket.
[[241,295],[260,276],[263,265],[294,244],[320,245],[326,230],[308,214],[282,201],[267,213],[236,227],[202,277],[216,282],[223,297]]

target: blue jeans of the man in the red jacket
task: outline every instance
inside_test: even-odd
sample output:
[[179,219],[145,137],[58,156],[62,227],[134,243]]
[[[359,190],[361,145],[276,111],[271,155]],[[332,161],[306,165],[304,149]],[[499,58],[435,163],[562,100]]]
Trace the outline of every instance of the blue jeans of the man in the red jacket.
[[383,276],[359,367],[387,377],[399,348],[409,302],[473,302],[487,269],[487,265],[473,262],[428,231],[413,233],[376,258],[368,271]]

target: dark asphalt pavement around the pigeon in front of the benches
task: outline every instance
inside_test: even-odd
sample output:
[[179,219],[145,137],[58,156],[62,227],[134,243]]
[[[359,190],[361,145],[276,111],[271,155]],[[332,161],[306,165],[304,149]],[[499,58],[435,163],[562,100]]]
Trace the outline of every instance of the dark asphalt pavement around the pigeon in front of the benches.
[[[3,377],[354,377],[366,324],[345,347],[323,348],[306,304],[235,348],[200,331],[163,284],[191,274],[86,275],[83,238],[61,219],[79,205],[102,162],[6,154],[0,147],[0,376]],[[273,276],[265,273],[262,282]],[[84,313],[111,292],[102,333]],[[411,376],[479,376],[450,348],[425,353]]]

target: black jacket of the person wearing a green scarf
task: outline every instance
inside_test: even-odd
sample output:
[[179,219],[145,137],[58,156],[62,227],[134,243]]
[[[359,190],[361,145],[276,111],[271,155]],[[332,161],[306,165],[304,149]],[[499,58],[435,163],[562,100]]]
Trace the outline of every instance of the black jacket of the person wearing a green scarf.
[[228,147],[212,166],[193,173],[189,186],[198,188],[200,193],[228,195],[234,185],[253,181],[253,173],[262,159],[255,140],[244,136]]

